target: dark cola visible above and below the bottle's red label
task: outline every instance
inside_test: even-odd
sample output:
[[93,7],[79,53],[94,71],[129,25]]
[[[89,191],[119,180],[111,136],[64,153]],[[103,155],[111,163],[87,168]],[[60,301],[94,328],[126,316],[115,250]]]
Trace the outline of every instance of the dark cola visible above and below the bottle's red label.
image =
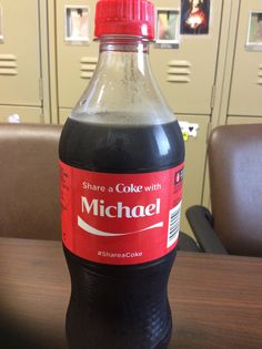
[[[180,164],[184,145],[178,122],[103,125],[69,119],[60,160],[94,172],[144,173]],[[172,318],[168,279],[175,257],[115,266],[84,260],[64,247],[72,291],[67,314],[70,349],[164,349]]]

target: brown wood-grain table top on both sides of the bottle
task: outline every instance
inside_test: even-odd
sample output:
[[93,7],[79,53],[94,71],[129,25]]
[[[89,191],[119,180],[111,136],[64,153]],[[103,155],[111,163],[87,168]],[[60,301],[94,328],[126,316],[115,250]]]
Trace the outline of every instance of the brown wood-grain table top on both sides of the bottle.
[[[0,238],[0,348],[67,348],[69,294],[60,243]],[[169,295],[170,349],[262,348],[262,258],[181,252]]]

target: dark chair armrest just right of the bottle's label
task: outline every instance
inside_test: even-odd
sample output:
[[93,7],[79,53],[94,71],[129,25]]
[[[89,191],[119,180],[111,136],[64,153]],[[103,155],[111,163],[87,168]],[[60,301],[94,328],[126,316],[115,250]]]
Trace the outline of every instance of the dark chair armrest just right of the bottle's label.
[[226,249],[213,229],[213,217],[203,206],[191,206],[185,212],[195,239],[205,253],[228,255]]

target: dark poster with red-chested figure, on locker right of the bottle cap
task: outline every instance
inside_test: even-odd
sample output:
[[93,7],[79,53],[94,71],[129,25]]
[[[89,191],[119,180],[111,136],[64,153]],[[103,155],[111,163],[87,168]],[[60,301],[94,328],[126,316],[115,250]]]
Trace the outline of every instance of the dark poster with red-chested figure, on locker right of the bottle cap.
[[210,0],[181,0],[181,34],[209,34]]

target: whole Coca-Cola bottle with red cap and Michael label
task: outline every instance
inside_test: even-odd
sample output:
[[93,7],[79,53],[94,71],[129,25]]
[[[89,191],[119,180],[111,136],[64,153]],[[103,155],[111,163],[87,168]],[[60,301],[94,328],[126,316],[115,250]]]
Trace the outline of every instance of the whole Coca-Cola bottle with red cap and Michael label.
[[184,144],[149,65],[153,4],[98,1],[95,37],[97,70],[59,147],[67,339],[71,349],[163,349]]

